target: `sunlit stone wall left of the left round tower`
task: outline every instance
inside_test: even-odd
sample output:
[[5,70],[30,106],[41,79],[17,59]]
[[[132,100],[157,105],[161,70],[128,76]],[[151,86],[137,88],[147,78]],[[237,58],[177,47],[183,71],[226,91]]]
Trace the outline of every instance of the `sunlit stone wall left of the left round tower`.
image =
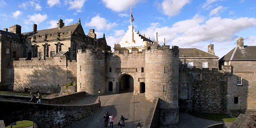
[[66,56],[39,58],[20,58],[13,61],[14,91],[40,91],[41,93],[60,93],[60,86],[76,83],[76,62]]

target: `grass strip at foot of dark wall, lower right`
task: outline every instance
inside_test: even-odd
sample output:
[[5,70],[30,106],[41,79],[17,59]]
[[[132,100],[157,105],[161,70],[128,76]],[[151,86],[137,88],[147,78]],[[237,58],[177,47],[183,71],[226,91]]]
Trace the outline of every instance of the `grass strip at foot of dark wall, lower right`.
[[189,114],[198,118],[204,118],[207,120],[215,120],[215,121],[224,121],[224,122],[234,122],[237,118],[237,117],[229,116],[228,114],[219,114],[219,113],[194,112]]

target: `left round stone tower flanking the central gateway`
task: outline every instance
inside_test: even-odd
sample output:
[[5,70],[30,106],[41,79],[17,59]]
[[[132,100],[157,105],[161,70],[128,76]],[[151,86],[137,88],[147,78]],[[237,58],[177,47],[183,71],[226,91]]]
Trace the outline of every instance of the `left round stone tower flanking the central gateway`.
[[82,49],[77,54],[77,91],[98,95],[105,93],[106,57],[102,50]]

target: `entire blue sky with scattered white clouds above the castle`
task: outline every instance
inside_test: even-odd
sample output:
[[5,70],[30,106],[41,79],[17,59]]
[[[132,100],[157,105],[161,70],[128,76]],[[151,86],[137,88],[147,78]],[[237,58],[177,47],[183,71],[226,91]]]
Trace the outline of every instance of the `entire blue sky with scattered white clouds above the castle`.
[[130,25],[130,7],[135,31],[162,45],[199,48],[207,52],[214,44],[220,58],[236,46],[239,37],[244,45],[256,45],[255,0],[0,0],[0,29],[22,26],[22,33],[81,24],[84,33],[95,29],[97,38],[106,35],[109,46],[119,43]]

